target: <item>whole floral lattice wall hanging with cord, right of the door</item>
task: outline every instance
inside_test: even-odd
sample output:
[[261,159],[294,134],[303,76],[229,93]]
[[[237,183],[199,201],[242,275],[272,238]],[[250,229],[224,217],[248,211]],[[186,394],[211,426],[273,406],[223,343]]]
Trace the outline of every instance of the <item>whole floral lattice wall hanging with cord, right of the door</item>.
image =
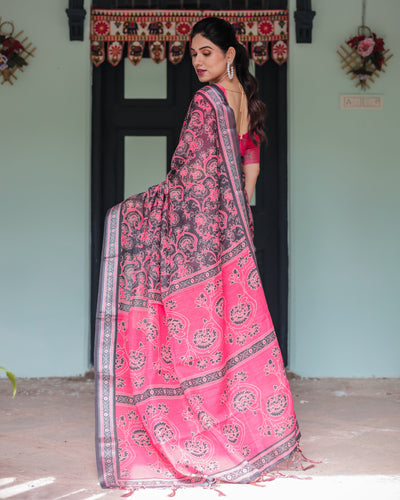
[[385,49],[383,38],[365,26],[365,5],[363,0],[362,25],[358,33],[340,46],[337,51],[342,60],[342,69],[354,80],[356,87],[363,90],[370,88],[370,83],[375,83],[374,77],[380,78],[379,73],[385,73],[389,59],[393,57],[389,49]]

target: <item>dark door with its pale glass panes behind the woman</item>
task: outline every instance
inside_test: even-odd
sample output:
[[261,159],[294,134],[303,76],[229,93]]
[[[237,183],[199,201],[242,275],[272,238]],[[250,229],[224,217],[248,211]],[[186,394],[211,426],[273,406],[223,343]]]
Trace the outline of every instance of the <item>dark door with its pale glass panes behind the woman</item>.
[[[94,1],[94,7],[126,8],[116,0]],[[126,2],[125,2],[126,3]],[[129,3],[129,2],[128,2]],[[135,2],[140,3],[140,2]],[[155,8],[155,5],[147,5]],[[154,1],[153,1],[154,3]],[[168,5],[165,5],[165,4]],[[160,8],[175,7],[161,2]],[[184,2],[184,7],[193,8]],[[193,3],[193,2],[192,2]],[[210,8],[197,5],[195,8]],[[209,4],[210,2],[208,2]],[[217,2],[212,2],[213,4]],[[284,8],[287,1],[262,2]],[[279,5],[277,5],[279,4]],[[142,5],[134,5],[140,8]],[[181,8],[182,6],[179,6]],[[220,7],[216,7],[220,8]],[[253,8],[251,5],[250,8]],[[286,65],[267,61],[256,68],[260,97],[267,105],[268,146],[261,148],[261,173],[252,206],[255,246],[264,291],[287,362],[287,147]],[[190,100],[200,87],[188,50],[183,61],[155,64],[144,54],[138,66],[128,60],[116,67],[93,68],[92,88],[92,238],[91,329],[94,327],[103,222],[107,210],[124,198],[164,180]]]

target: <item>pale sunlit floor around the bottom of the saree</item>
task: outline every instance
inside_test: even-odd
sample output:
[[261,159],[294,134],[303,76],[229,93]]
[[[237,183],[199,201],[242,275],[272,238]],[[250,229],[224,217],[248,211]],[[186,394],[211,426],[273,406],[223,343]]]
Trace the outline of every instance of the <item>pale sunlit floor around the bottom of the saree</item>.
[[[0,499],[121,498],[98,485],[93,380],[22,379],[11,399],[0,380]],[[224,485],[228,498],[400,499],[400,379],[291,379],[302,448],[322,463],[310,480],[277,479],[264,487]],[[299,474],[300,475],[300,474]],[[170,490],[134,497],[168,499]],[[176,498],[216,498],[201,488]]]

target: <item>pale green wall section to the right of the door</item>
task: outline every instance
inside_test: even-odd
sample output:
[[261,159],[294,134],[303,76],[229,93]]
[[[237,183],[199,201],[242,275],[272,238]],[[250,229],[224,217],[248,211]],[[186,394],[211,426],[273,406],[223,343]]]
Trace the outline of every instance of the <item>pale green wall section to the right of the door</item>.
[[361,0],[312,3],[312,44],[296,45],[291,27],[289,364],[302,376],[399,376],[400,2],[367,2],[366,24],[394,53],[366,92],[384,96],[382,111],[339,109],[340,94],[362,93],[336,54]]

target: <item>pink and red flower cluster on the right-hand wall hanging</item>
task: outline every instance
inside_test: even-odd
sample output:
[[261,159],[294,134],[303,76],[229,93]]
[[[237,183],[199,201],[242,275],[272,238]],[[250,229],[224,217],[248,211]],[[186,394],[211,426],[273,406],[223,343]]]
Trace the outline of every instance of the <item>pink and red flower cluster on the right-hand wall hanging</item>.
[[359,34],[346,42],[361,58],[361,66],[352,69],[351,72],[359,79],[363,88],[368,78],[374,73],[373,68],[382,71],[382,65],[385,62],[383,38],[378,38],[371,30],[369,32],[369,36]]

